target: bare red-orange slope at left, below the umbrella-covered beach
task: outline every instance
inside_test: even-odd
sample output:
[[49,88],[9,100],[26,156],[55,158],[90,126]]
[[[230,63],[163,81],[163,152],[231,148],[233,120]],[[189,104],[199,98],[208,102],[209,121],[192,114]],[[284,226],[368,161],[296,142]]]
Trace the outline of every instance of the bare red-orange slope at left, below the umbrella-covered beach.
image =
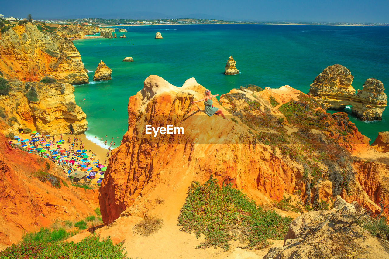
[[[58,175],[61,187],[34,177],[38,170]],[[61,168],[47,159],[12,149],[0,133],[0,250],[17,243],[26,232],[39,231],[59,221],[75,221],[95,215],[98,207],[97,190],[77,189]]]

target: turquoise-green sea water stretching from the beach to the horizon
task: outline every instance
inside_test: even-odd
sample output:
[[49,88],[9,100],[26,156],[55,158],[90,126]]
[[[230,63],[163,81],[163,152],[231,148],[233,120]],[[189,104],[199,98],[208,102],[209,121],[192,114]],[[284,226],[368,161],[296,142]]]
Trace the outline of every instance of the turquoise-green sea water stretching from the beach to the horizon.
[[[92,141],[114,138],[119,145],[128,126],[128,98],[143,87],[151,74],[175,86],[195,77],[212,94],[234,87],[289,85],[308,93],[314,78],[329,65],[341,64],[362,89],[370,77],[389,89],[389,26],[309,25],[161,25],[128,26],[126,39],[75,40],[91,84],[75,86],[77,105],[87,114]],[[154,39],[161,32],[163,39]],[[223,75],[229,56],[240,74]],[[125,57],[135,62],[122,62]],[[103,60],[112,68],[112,80],[93,82]],[[387,94],[388,91],[385,91]],[[85,101],[82,101],[83,99]],[[345,109],[350,112],[349,109]],[[382,121],[362,122],[351,114],[359,131],[372,141],[389,128],[389,108]],[[107,137],[105,137],[107,135]]]

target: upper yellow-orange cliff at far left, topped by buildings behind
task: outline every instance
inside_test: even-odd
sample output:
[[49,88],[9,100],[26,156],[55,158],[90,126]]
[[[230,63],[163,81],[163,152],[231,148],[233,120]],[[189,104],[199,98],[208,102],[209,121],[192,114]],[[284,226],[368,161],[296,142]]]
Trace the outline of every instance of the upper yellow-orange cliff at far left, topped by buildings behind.
[[27,23],[0,35],[0,72],[6,79],[39,81],[52,75],[60,82],[88,84],[74,44],[56,33],[40,32]]

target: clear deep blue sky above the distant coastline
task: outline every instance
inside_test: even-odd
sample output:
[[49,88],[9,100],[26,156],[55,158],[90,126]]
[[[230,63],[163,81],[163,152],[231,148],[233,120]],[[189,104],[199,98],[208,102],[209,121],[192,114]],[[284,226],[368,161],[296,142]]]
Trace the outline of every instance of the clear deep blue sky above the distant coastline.
[[389,0],[0,0],[4,16],[33,19],[209,17],[248,21],[389,22]]

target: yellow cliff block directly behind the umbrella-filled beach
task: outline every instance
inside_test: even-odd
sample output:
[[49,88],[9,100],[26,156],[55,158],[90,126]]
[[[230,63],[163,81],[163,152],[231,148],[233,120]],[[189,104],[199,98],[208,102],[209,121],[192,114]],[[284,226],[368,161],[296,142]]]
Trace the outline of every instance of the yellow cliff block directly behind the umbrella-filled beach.
[[26,128],[43,135],[68,134],[71,130],[81,134],[86,131],[86,114],[75,104],[74,86],[71,84],[16,80],[9,84],[9,95],[0,96],[0,109],[9,125],[4,129],[5,134],[17,134]]

